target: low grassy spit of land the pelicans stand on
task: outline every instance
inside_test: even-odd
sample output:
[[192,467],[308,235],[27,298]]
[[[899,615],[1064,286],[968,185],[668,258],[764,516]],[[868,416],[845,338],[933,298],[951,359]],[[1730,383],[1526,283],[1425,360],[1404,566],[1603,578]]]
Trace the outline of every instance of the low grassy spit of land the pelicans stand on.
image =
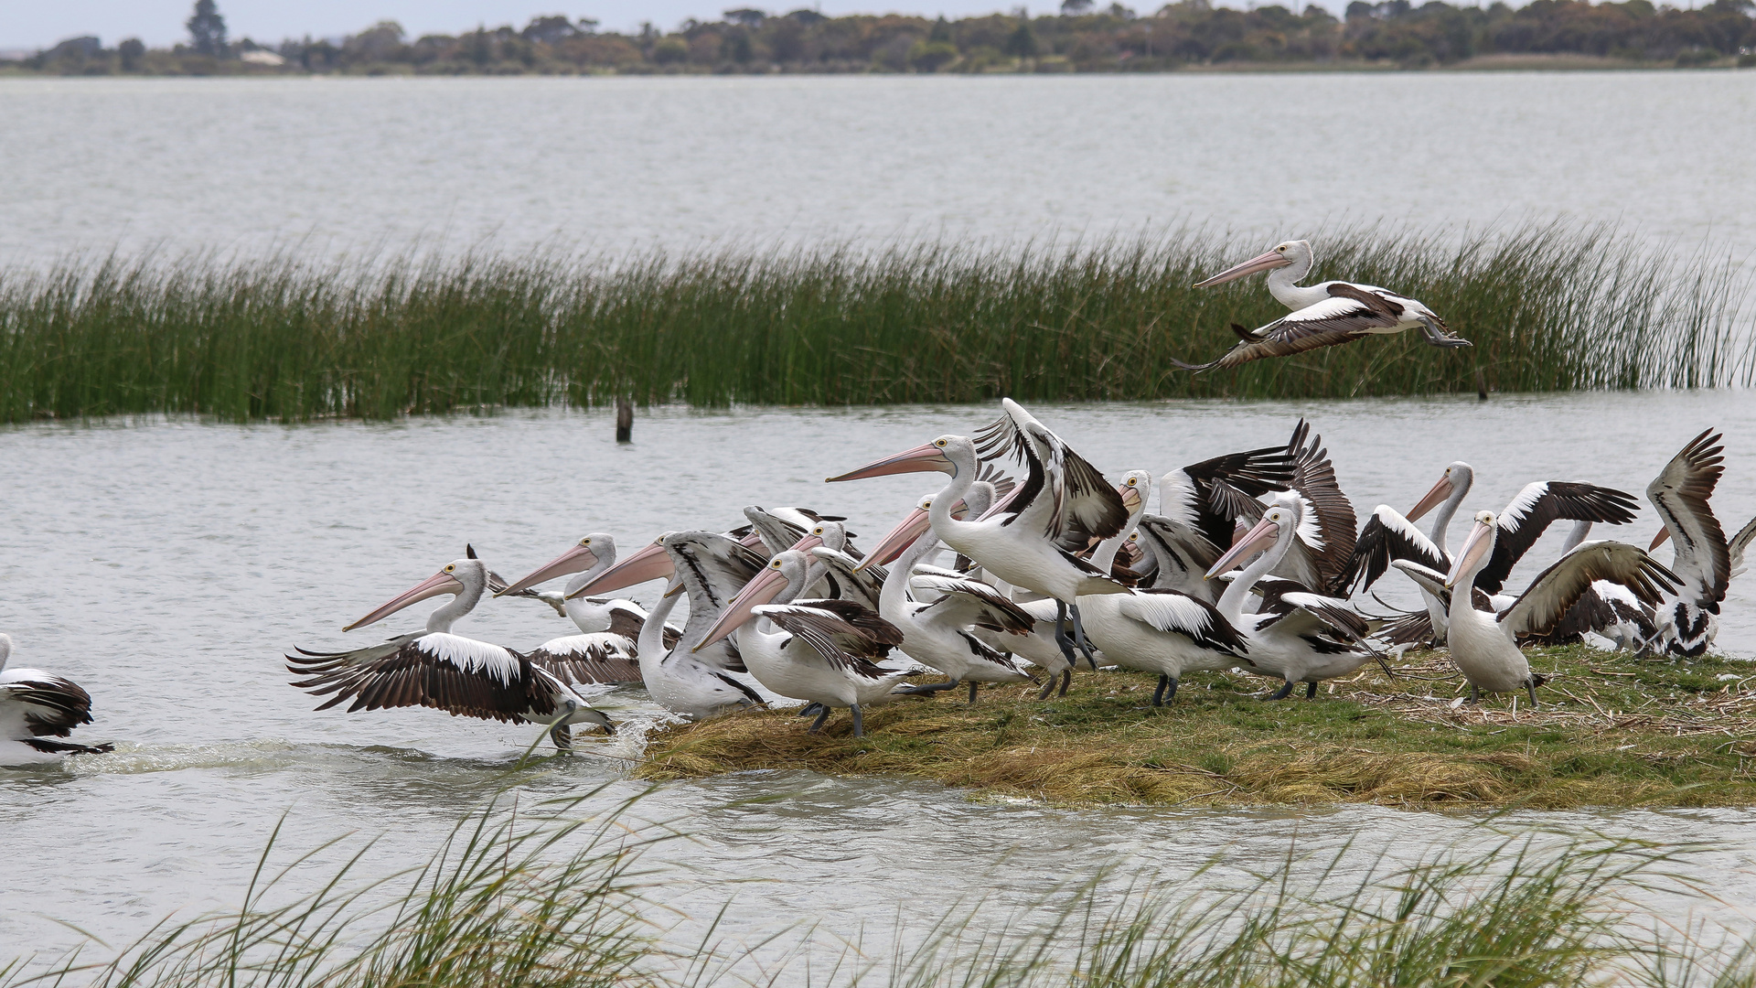
[[[752,768],[911,775],[1052,803],[1398,807],[1735,807],[1756,803],[1756,666],[1637,659],[1584,645],[1533,649],[1542,707],[1466,694],[1443,652],[1408,654],[1326,684],[1317,700],[1263,701],[1245,673],[1191,673],[1152,708],[1155,677],[1098,672],[1066,698],[1034,687],[867,710],[866,737],[822,735],[790,710],[660,730],[637,774]],[[954,691],[955,693],[955,691]],[[1296,696],[1301,696],[1299,691]]]

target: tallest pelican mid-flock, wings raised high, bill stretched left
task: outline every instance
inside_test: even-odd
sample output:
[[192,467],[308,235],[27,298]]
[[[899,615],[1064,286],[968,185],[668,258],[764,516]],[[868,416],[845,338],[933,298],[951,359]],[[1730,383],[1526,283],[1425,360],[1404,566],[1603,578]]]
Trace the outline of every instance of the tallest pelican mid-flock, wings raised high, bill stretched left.
[[[962,501],[976,482],[980,455],[968,436],[938,440],[887,457],[852,473],[831,476],[860,480],[889,473],[948,473],[952,480],[932,496],[932,531],[939,540],[978,563],[987,573],[1027,591],[1054,598],[1055,643],[1073,665],[1073,643],[1080,643],[1087,661],[1076,601],[1082,594],[1126,592],[1120,582],[1078,559],[1068,545],[1083,548],[1090,538],[1110,538],[1127,522],[1122,498],[1068,445],[1045,429],[1011,399],[1001,399],[1006,413],[983,432],[994,452],[1010,450],[1027,468],[1026,480],[987,517],[957,520],[952,505]],[[1073,640],[1062,621],[1073,615]]]

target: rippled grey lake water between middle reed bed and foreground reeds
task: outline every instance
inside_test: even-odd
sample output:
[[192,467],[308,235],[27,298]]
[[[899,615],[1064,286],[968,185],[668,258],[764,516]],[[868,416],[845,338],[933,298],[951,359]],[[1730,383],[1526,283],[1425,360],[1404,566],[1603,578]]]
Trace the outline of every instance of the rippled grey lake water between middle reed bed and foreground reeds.
[[[1322,432],[1361,510],[1407,510],[1452,459],[1477,466],[1468,506],[1498,508],[1526,482],[1570,478],[1644,490],[1693,434],[1728,434],[1714,506],[1730,526],[1756,513],[1756,396],[1580,394],[1329,403],[1168,403],[1038,408],[1105,471],[1162,473],[1208,455],[1284,441],[1294,420]],[[446,717],[314,712],[288,686],[281,652],[418,628],[423,607],[360,631],[339,628],[474,547],[515,577],[587,531],[639,545],[667,527],[723,529],[748,503],[845,513],[867,538],[934,487],[929,476],[824,485],[822,478],[992,420],[992,408],[660,410],[616,447],[597,413],[504,413],[393,425],[104,422],[0,429],[0,629],[16,661],[70,675],[95,696],[77,740],[114,756],[53,770],[0,770],[0,958],[79,941],[111,944],[169,912],[235,904],[269,832],[284,817],[290,860],[346,833],[379,837],[367,872],[430,853],[451,825],[511,786],[525,803],[608,784],[602,810],[643,786],[623,761],[578,756],[509,772],[529,726]],[[1649,508],[1626,531],[1645,543]],[[1552,556],[1549,543],[1533,559]],[[1396,580],[1385,589],[1408,594]],[[651,599],[653,587],[643,587]],[[1731,585],[1724,650],[1756,657],[1756,582]],[[486,603],[465,633],[532,645],[571,624],[529,601]],[[650,721],[651,707],[627,714]],[[637,730],[592,752],[634,758]],[[766,802],[750,802],[762,798]],[[799,921],[869,942],[897,912],[931,919],[957,900],[1022,905],[1059,881],[1119,863],[1117,881],[1168,881],[1224,854],[1270,867],[1294,840],[1347,840],[1419,854],[1473,835],[1479,821],[1378,807],[1059,810],[978,802],[908,781],[746,774],[660,786],[641,805],[692,833],[653,851],[655,895],[688,942],[727,895],[727,935]],[[1745,810],[1514,814],[1501,833],[1601,830],[1714,840],[1691,867],[1726,904],[1672,904],[1721,918],[1756,909],[1756,819]],[[1559,840],[1559,837],[1556,837]],[[334,865],[344,849],[318,858]],[[68,853],[60,849],[67,847]],[[316,881],[318,867],[304,881]],[[762,879],[727,888],[729,879]],[[297,884],[297,883],[295,883]],[[673,919],[664,919],[671,923]],[[882,953],[882,951],[880,951]]]

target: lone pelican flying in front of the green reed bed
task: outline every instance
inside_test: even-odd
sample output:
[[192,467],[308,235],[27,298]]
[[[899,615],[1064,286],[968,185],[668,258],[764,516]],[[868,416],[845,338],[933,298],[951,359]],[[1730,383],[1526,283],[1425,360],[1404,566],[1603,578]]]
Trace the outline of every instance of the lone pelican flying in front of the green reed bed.
[[1470,346],[1470,341],[1454,336],[1433,309],[1407,295],[1352,281],[1299,285],[1310,274],[1313,262],[1315,255],[1308,241],[1285,241],[1268,253],[1220,271],[1206,281],[1198,281],[1196,288],[1208,288],[1268,271],[1268,292],[1292,313],[1261,329],[1231,323],[1238,343],[1217,360],[1185,364],[1173,359],[1171,362],[1189,371],[1236,367],[1263,357],[1289,357],[1321,346],[1352,343],[1366,336],[1389,336],[1405,329],[1419,329],[1421,336],[1433,346]]

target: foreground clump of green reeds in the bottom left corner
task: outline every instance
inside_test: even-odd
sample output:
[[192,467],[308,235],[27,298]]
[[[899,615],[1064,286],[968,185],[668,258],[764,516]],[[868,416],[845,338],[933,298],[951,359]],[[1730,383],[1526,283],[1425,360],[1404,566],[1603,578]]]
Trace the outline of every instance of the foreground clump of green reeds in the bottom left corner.
[[235,912],[165,919],[109,960],[76,953],[28,981],[26,960],[0,965],[0,984],[637,984],[653,958],[637,912],[641,842],[613,826],[532,826],[490,805],[420,868],[369,877],[369,844],[316,891],[284,902],[276,900],[306,884],[311,860],[332,844],[270,874],[276,828]]

